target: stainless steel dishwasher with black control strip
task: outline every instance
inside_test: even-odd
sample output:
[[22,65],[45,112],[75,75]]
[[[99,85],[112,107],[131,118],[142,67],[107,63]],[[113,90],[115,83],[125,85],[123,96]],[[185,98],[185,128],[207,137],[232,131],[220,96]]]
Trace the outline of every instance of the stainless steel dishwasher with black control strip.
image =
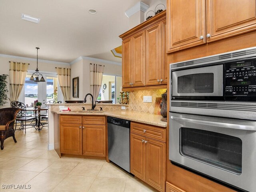
[[108,159],[130,173],[130,121],[108,117]]

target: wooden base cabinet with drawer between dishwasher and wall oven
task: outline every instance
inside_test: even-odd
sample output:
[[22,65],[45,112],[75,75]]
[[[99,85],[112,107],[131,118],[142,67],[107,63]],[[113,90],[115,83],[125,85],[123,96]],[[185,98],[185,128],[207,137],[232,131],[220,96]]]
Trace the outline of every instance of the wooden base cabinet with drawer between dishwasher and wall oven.
[[166,130],[131,122],[130,150],[130,172],[156,190],[164,191]]

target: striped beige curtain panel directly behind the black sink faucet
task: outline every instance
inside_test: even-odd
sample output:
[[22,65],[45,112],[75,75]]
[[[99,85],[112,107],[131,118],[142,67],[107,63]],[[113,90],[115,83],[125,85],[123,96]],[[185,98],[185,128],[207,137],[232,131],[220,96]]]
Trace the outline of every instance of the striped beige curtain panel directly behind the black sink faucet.
[[102,83],[104,66],[90,63],[90,92],[94,98],[92,101],[95,103],[99,94]]

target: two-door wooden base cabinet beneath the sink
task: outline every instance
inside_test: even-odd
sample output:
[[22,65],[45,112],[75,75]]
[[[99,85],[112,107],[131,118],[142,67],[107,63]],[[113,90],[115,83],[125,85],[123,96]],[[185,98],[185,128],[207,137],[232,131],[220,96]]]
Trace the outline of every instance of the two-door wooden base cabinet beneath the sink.
[[60,115],[60,152],[106,156],[106,117]]

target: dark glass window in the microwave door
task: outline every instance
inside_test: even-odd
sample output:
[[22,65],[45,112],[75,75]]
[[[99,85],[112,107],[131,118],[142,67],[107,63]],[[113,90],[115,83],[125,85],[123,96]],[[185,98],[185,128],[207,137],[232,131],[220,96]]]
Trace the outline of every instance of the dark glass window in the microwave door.
[[178,93],[213,93],[213,80],[213,73],[179,76]]

